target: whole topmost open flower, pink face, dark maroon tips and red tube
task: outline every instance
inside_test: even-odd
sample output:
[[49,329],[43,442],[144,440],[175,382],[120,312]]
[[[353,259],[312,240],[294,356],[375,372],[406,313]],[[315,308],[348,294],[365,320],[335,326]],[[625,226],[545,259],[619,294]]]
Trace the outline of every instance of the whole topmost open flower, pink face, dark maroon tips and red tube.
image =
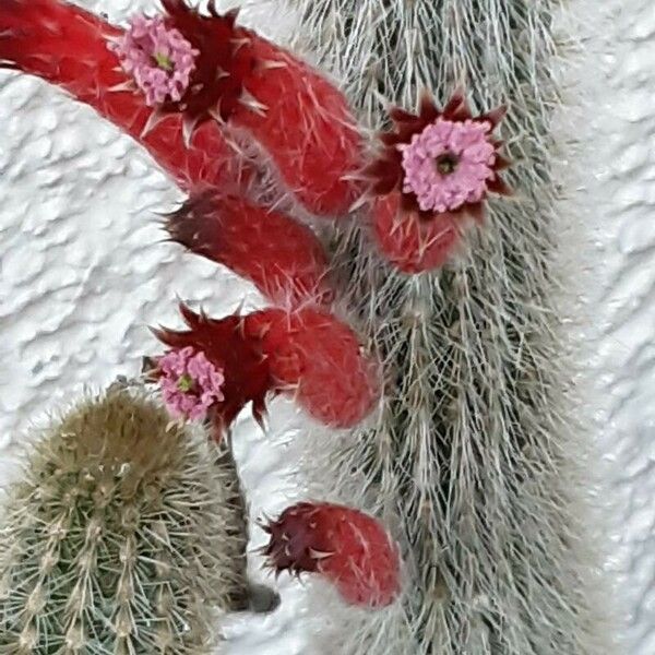
[[[216,119],[274,166],[282,189],[312,214],[337,217],[361,195],[364,140],[344,95],[285,49],[222,14],[202,15],[188,0],[163,0],[165,14],[111,36],[128,80],[155,110],[147,129],[181,116],[188,145]],[[174,57],[177,56],[177,59]]]

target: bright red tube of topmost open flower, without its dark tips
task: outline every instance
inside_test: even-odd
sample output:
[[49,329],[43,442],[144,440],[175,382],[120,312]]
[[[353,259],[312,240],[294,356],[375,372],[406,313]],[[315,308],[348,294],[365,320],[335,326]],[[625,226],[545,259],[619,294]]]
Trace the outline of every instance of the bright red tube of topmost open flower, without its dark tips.
[[317,216],[346,215],[366,190],[364,141],[343,94],[277,46],[253,37],[258,67],[245,80],[249,96],[230,124],[264,148],[288,193]]

